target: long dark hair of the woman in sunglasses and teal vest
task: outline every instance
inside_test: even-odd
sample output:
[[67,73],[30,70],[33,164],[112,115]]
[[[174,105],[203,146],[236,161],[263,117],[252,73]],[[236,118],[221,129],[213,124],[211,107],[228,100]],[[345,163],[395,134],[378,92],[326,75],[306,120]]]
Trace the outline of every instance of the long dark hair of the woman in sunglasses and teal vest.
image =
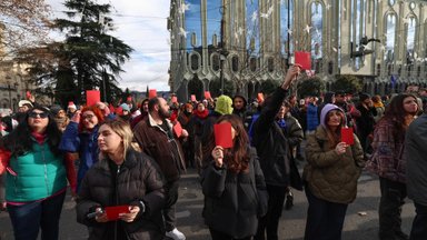
[[31,128],[28,124],[29,113],[34,109],[48,113],[48,126],[46,129],[46,138],[47,142],[50,147],[50,151],[53,152],[54,156],[60,156],[61,151],[58,149],[59,143],[61,141],[62,133],[58,129],[58,124],[53,120],[53,116],[50,113],[48,108],[41,106],[34,106],[30,111],[27,112],[24,121],[20,122],[18,127],[8,136],[4,136],[1,141],[1,148],[10,151],[12,156],[22,156],[29,151],[32,151],[33,140],[31,138]]

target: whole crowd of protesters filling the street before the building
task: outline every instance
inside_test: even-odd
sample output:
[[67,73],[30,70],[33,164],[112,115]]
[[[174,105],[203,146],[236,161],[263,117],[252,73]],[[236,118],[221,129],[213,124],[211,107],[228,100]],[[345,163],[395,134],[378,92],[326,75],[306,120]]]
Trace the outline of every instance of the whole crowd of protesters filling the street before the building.
[[[307,197],[305,240],[339,240],[363,170],[379,178],[379,239],[427,239],[427,91],[298,99],[289,89],[299,73],[291,67],[270,96],[254,100],[129,97],[117,107],[67,108],[21,100],[18,112],[0,116],[0,210],[14,239],[58,239],[69,186],[89,239],[183,240],[176,204],[188,168],[200,177],[214,240],[284,239],[279,220],[292,190]],[[216,144],[220,123],[231,124],[231,148]],[[409,234],[400,226],[407,197],[416,207]],[[107,211],[123,206],[115,218]]]

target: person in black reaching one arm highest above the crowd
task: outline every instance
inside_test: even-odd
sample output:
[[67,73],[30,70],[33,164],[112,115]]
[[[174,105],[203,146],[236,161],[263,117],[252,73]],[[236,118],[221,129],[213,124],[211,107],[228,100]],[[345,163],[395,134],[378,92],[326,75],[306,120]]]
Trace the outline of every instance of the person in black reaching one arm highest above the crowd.
[[266,178],[269,194],[268,212],[259,220],[255,239],[278,239],[278,227],[284,208],[286,190],[289,181],[289,142],[284,134],[277,114],[288,93],[292,81],[299,74],[299,67],[291,67],[280,88],[262,103],[262,110],[254,126],[252,143],[257,149],[259,162]]

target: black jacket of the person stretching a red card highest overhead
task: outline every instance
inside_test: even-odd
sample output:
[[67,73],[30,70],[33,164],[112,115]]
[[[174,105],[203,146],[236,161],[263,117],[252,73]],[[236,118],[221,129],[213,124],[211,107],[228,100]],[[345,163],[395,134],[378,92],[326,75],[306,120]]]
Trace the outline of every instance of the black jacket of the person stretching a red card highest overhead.
[[252,143],[257,148],[266,183],[289,186],[289,140],[275,121],[287,91],[278,88],[262,106],[261,114],[254,126]]

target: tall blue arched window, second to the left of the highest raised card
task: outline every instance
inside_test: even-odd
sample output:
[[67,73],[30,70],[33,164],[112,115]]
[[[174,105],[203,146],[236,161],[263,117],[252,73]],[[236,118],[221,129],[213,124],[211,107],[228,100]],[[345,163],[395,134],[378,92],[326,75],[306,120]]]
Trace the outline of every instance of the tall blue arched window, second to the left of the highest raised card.
[[246,0],[246,46],[250,56],[259,53],[259,0]]

